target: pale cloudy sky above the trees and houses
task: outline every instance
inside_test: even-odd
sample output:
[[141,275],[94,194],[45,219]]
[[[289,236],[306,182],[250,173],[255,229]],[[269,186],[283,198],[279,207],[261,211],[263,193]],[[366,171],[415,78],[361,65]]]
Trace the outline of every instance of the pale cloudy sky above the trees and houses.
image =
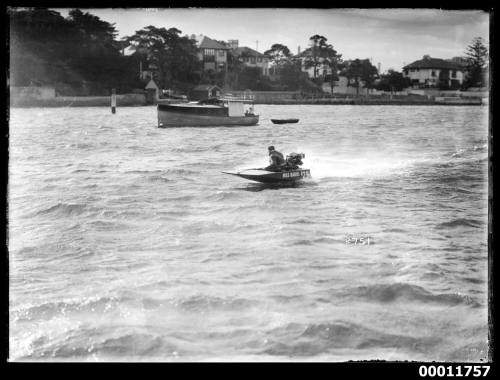
[[[68,9],[55,9],[66,17]],[[286,45],[293,54],[315,34],[343,59],[370,58],[381,72],[401,71],[428,54],[463,56],[473,38],[489,41],[489,14],[481,10],[439,9],[290,9],[290,8],[100,8],[82,9],[114,23],[118,38],[148,25],[238,40],[260,52]]]

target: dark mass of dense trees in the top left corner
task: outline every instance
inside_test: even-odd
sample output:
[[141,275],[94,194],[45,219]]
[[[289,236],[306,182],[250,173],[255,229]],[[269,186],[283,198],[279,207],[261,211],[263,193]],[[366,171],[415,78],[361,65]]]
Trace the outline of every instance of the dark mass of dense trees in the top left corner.
[[10,9],[10,84],[52,85],[60,95],[129,91],[135,57],[122,55],[112,24],[75,9],[67,18],[46,8]]

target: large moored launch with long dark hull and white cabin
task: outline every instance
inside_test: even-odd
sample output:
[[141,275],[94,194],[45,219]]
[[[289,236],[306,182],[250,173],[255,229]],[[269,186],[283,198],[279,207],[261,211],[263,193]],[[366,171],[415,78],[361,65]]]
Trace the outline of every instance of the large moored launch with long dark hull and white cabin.
[[158,104],[158,127],[255,125],[253,96],[225,96],[199,102]]

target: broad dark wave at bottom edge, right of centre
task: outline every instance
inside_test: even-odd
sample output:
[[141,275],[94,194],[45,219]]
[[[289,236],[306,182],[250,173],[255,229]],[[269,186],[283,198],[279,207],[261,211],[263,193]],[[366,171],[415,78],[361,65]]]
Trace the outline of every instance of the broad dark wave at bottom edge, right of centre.
[[[346,348],[396,348],[425,353],[441,343],[441,339],[437,337],[389,334],[342,320],[307,325],[293,324],[285,329],[291,330],[291,333],[287,334],[288,337],[269,339],[270,343],[262,353],[277,356],[315,356]],[[269,334],[279,337],[282,332],[283,328],[279,328]]]

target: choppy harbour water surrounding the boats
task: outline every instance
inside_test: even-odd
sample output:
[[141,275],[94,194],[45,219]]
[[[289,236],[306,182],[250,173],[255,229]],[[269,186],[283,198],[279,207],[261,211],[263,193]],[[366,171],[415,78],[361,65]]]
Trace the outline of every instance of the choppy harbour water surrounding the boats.
[[10,360],[486,360],[486,108],[257,110],[11,109]]

